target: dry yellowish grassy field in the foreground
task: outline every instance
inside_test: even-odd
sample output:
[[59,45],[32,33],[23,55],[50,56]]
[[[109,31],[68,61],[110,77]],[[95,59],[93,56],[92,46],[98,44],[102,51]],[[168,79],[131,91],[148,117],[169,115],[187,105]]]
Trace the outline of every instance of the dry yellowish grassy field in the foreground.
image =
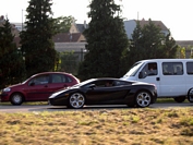
[[0,113],[0,145],[193,145],[193,108]]

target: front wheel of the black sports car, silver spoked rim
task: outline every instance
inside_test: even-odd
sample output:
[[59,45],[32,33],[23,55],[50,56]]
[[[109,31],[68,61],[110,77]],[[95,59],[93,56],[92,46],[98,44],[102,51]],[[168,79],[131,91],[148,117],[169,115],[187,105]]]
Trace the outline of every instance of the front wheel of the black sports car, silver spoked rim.
[[73,109],[83,108],[85,105],[85,97],[81,93],[74,93],[69,98],[69,107]]

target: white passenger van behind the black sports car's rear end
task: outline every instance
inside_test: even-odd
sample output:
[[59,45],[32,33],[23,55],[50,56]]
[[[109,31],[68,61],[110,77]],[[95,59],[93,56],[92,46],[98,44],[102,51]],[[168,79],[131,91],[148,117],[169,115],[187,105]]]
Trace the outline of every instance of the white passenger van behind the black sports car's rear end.
[[137,61],[122,77],[157,86],[158,97],[193,102],[193,59],[149,59]]

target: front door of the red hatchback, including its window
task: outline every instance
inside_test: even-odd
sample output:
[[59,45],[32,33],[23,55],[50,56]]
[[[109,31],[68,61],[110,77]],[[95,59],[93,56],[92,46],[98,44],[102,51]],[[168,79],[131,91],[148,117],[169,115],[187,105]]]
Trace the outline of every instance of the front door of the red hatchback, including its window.
[[26,99],[34,101],[46,101],[50,95],[49,81],[49,74],[41,74],[31,78],[27,83],[28,87],[25,88]]

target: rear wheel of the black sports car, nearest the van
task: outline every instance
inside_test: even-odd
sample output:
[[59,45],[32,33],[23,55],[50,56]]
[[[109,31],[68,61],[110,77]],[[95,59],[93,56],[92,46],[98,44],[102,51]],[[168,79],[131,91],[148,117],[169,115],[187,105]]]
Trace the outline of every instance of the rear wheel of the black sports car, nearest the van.
[[152,102],[152,95],[148,92],[143,90],[136,94],[135,96],[136,107],[145,108],[148,107],[150,102]]

